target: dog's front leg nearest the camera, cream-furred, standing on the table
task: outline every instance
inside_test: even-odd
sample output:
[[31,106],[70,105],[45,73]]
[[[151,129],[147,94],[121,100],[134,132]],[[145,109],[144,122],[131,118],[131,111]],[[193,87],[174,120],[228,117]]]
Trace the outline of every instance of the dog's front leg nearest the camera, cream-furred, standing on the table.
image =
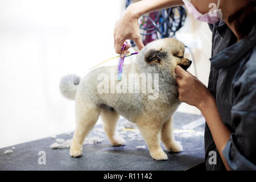
[[136,124],[147,143],[151,157],[155,160],[167,160],[168,157],[160,146],[160,131],[162,129],[160,123],[148,121],[148,119],[139,119]]

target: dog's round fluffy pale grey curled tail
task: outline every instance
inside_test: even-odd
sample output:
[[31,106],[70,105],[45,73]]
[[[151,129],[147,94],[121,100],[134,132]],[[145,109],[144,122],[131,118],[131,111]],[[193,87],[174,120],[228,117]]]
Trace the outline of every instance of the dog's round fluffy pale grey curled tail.
[[77,75],[67,75],[60,80],[60,93],[69,100],[75,100],[77,86],[81,78]]

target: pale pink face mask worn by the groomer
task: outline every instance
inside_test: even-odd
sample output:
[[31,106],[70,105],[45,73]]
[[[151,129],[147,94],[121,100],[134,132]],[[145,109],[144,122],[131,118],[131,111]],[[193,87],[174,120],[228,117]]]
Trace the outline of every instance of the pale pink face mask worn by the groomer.
[[210,3],[209,7],[213,7],[208,13],[201,14],[195,6],[192,5],[190,2],[191,0],[182,0],[185,4],[185,6],[188,9],[188,13],[192,14],[195,19],[200,20],[201,22],[207,22],[210,24],[214,24],[222,19],[222,11],[221,9],[218,9],[220,6],[220,0],[218,0],[217,9],[214,9],[214,6],[216,6],[215,3]]

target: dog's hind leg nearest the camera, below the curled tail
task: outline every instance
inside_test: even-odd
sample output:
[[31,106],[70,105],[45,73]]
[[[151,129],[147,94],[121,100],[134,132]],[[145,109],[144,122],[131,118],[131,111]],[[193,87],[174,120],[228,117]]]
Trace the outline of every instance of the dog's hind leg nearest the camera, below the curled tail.
[[100,107],[76,101],[76,131],[69,154],[76,158],[82,155],[82,147],[86,135],[96,124],[100,115]]

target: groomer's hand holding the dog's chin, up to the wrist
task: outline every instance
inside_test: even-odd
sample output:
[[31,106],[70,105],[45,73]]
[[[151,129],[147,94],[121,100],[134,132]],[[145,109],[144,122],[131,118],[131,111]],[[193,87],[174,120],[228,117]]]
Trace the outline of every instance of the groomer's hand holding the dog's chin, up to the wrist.
[[208,98],[213,97],[207,87],[191,73],[185,71],[179,65],[175,69],[177,91],[179,100],[189,105],[196,106],[201,110],[201,106],[205,105]]

